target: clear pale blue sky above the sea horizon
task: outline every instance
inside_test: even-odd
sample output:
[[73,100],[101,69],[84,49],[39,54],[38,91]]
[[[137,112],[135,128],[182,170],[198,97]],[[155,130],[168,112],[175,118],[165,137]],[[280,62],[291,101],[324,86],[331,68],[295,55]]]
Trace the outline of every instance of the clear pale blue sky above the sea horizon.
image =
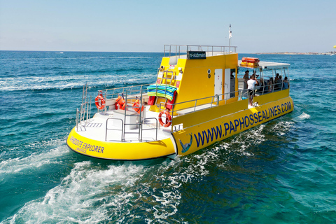
[[164,44],[238,52],[327,52],[336,0],[0,0],[0,50],[162,52]]

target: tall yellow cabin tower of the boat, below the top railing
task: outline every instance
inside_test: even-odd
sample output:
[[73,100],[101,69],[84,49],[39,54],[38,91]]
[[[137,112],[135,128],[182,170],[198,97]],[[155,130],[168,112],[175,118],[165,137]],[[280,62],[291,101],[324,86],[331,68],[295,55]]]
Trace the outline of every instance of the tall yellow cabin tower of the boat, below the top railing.
[[[177,56],[174,56],[177,57]],[[186,59],[186,58],[176,58],[176,64],[169,64],[172,61],[170,57],[162,58],[161,66],[169,71],[172,71],[173,79],[172,82],[167,81],[171,78],[171,74],[164,73],[163,79],[158,77],[158,83],[167,83],[167,85],[176,86],[177,88],[176,104],[181,102],[188,102],[193,99],[200,99],[204,97],[211,97],[214,95],[214,83],[215,75],[214,71],[216,69],[237,69],[238,66],[238,54],[218,54],[215,56],[209,56],[206,59]],[[235,71],[236,72],[236,71]],[[159,72],[160,73],[160,72]],[[166,79],[165,79],[166,78]],[[223,76],[222,80],[223,82]],[[238,83],[238,81],[236,82]],[[236,85],[238,89],[238,85]],[[224,89],[223,89],[224,90]],[[223,94],[223,92],[221,92]],[[159,99],[157,104],[160,102],[165,102],[165,99]],[[211,99],[204,99],[199,101],[198,104],[210,103]],[[178,104],[176,105],[176,110],[188,108],[190,104]],[[159,111],[156,106],[151,108],[152,111]]]

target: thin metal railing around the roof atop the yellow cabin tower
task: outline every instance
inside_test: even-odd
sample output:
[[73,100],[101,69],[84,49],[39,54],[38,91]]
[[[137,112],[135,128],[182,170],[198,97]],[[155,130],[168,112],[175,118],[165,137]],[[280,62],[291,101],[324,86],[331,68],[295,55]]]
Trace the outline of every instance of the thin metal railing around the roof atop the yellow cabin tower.
[[237,50],[237,46],[218,46],[218,45],[172,45],[164,47],[164,57],[186,55],[189,51],[205,51],[210,55],[216,53],[232,54]]

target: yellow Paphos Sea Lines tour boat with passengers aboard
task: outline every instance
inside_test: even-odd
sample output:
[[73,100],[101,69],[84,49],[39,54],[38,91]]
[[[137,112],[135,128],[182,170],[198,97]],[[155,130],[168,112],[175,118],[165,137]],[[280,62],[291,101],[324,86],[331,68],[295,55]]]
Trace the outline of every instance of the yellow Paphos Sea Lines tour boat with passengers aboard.
[[[107,160],[174,158],[293,111],[290,64],[239,61],[236,49],[165,45],[156,83],[99,90],[92,118],[85,85],[66,144]],[[252,72],[259,84],[247,90]]]

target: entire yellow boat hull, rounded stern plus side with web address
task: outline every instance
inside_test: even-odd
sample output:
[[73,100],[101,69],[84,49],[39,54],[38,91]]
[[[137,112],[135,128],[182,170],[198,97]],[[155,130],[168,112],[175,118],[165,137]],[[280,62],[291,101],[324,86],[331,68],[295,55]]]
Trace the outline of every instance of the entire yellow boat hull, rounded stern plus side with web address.
[[[283,97],[286,92],[255,97],[260,106],[248,108],[248,99],[174,117],[173,125],[183,124],[183,130],[158,141],[126,142],[98,141],[83,137],[71,130],[66,144],[76,153],[106,160],[151,160],[155,158],[188,155],[202,148],[244,132],[290,113],[293,99]],[[283,97],[283,98],[281,98]],[[275,99],[270,102],[270,99]]]

